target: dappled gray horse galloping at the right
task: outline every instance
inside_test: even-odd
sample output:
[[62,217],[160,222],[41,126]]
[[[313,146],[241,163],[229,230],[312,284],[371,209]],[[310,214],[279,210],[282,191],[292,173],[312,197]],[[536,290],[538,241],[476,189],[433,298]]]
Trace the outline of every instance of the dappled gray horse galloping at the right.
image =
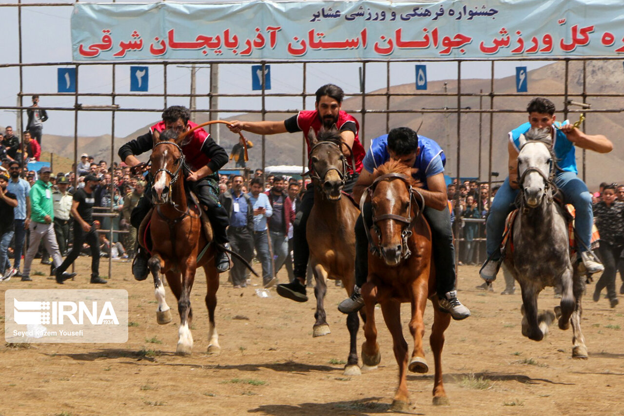
[[544,287],[559,287],[559,328],[568,329],[572,322],[572,357],[587,359],[580,327],[585,282],[570,258],[567,220],[553,201],[555,169],[549,127],[530,129],[520,137],[520,209],[512,228],[514,250],[505,255],[505,264],[522,288],[522,335],[539,341],[548,333],[555,315],[550,310],[538,315],[537,297]]

